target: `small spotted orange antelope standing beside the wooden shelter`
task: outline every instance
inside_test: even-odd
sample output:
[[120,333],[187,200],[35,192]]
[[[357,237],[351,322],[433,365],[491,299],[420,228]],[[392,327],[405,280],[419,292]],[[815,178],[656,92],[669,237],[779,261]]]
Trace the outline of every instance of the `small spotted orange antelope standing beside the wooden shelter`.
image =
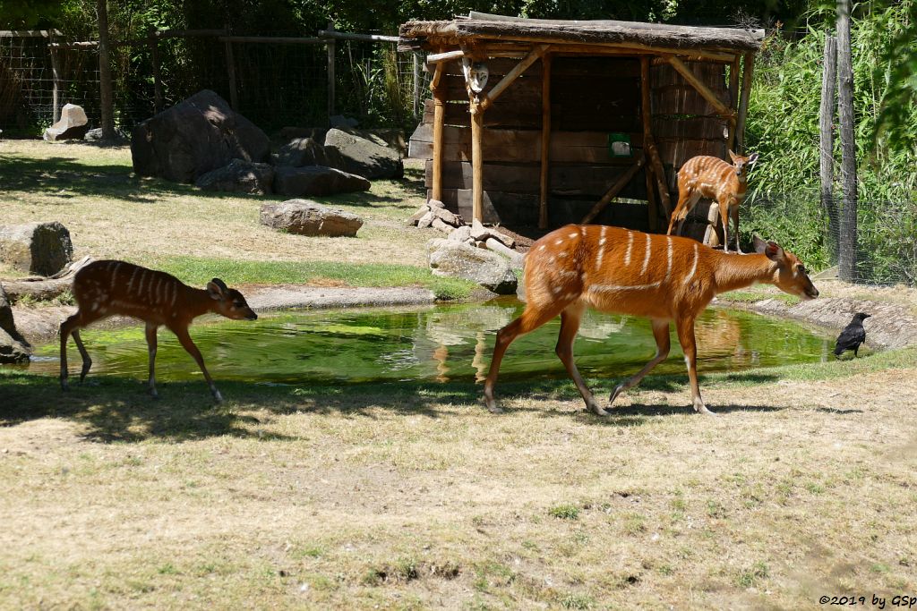
[[739,246],[739,204],[745,200],[748,180],[748,169],[755,167],[757,153],[748,157],[736,155],[729,151],[733,163],[723,159],[700,155],[692,157],[679,169],[679,203],[675,206],[672,218],[668,222],[668,235],[672,228],[679,224],[676,234],[681,235],[688,214],[702,197],[716,200],[720,209],[720,220],[723,221],[723,249],[729,252],[729,219],[735,224],[735,252],[742,254]]

